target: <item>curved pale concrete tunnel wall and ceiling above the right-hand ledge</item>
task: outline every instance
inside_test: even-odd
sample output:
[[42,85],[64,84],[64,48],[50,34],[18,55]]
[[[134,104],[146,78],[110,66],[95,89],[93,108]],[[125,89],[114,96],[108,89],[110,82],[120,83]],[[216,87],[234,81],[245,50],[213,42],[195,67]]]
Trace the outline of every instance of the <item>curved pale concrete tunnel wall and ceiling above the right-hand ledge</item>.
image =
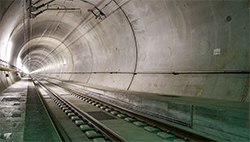
[[[20,56],[26,66],[32,66],[34,73],[63,80],[232,101],[240,101],[246,95],[248,101],[247,74],[154,74],[249,71],[247,0],[96,0],[93,3],[107,16],[101,20],[86,12],[93,6],[81,1],[54,3],[79,7],[82,12],[46,11],[31,21],[26,17],[27,31],[32,29],[26,42],[19,38],[24,33],[20,26],[21,2],[14,1],[10,5],[13,8],[2,13],[0,41],[7,34],[17,45],[12,53],[13,64]],[[16,13],[17,18],[13,19],[10,13]],[[10,28],[6,21],[16,21],[16,24]],[[0,49],[4,51],[3,45]],[[214,55],[215,49],[220,50],[220,55]]]

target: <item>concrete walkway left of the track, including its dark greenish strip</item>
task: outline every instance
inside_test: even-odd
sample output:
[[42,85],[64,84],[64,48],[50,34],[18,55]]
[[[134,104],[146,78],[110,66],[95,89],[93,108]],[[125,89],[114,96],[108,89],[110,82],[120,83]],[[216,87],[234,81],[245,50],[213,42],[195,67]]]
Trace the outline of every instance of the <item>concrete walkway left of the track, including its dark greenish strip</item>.
[[60,141],[31,79],[0,93],[0,141]]

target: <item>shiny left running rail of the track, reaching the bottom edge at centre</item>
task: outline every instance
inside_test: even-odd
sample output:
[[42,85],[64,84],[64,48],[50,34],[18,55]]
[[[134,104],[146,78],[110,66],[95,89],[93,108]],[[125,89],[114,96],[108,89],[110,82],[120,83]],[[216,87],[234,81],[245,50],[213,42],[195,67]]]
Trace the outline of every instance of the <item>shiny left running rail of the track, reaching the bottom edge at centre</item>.
[[[38,80],[37,80],[38,81]],[[38,81],[39,82],[39,81]],[[111,141],[114,142],[127,142],[124,138],[116,134],[114,131],[100,123],[98,120],[93,118],[91,115],[88,113],[82,111],[79,109],[77,106],[73,105],[66,99],[60,97],[56,92],[51,90],[49,87],[47,87],[45,84],[42,84],[39,82],[44,88],[46,88],[51,94],[53,94],[57,99],[63,101],[67,106],[69,106],[71,109],[73,109],[79,116],[82,118],[86,119],[88,122],[90,122],[96,129],[98,129],[103,135],[107,136]]]

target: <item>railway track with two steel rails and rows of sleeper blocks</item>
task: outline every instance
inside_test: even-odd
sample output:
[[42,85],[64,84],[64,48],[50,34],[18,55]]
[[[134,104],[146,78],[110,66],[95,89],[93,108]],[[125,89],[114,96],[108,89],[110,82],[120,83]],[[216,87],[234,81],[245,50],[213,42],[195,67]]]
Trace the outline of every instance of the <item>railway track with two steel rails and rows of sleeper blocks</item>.
[[[53,101],[61,108],[69,119],[71,119],[89,139],[94,141],[136,141],[142,138],[135,137],[147,136],[155,137],[154,141],[215,141],[205,136],[193,133],[192,131],[164,123],[139,112],[91,97],[78,90],[55,84],[48,80],[38,81],[35,79],[34,84],[43,88],[48,94],[50,94]],[[67,91],[71,97],[74,96],[74,99],[68,100],[66,97],[63,97],[63,94],[57,93],[55,89],[53,89],[55,86]],[[69,98],[69,96],[67,97]],[[77,99],[77,101],[75,101],[75,99]],[[77,105],[74,102],[78,102],[76,103]],[[101,112],[107,113],[109,116],[114,116],[115,119],[112,120],[113,124],[108,123],[108,121],[111,122],[111,120],[108,120],[107,122],[97,120],[95,116],[81,109],[81,104],[83,105],[84,103],[85,105],[89,105],[88,108],[90,108],[90,106],[96,107],[97,109],[100,109]],[[124,132],[120,130],[121,128],[118,129],[119,127],[124,126],[128,126],[128,129],[131,129],[131,131],[136,130],[136,132],[141,135],[133,136],[133,133],[130,133],[131,136],[129,136],[123,134],[129,134],[127,130],[125,132],[126,128],[124,128]],[[148,139],[148,141],[152,140]]]

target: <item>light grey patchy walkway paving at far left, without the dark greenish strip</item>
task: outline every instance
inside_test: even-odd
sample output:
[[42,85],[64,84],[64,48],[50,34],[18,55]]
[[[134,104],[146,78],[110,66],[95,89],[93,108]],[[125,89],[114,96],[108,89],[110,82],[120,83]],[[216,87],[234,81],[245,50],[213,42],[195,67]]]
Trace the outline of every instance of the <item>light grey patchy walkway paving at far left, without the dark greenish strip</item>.
[[27,78],[9,86],[0,93],[0,141],[23,141]]

